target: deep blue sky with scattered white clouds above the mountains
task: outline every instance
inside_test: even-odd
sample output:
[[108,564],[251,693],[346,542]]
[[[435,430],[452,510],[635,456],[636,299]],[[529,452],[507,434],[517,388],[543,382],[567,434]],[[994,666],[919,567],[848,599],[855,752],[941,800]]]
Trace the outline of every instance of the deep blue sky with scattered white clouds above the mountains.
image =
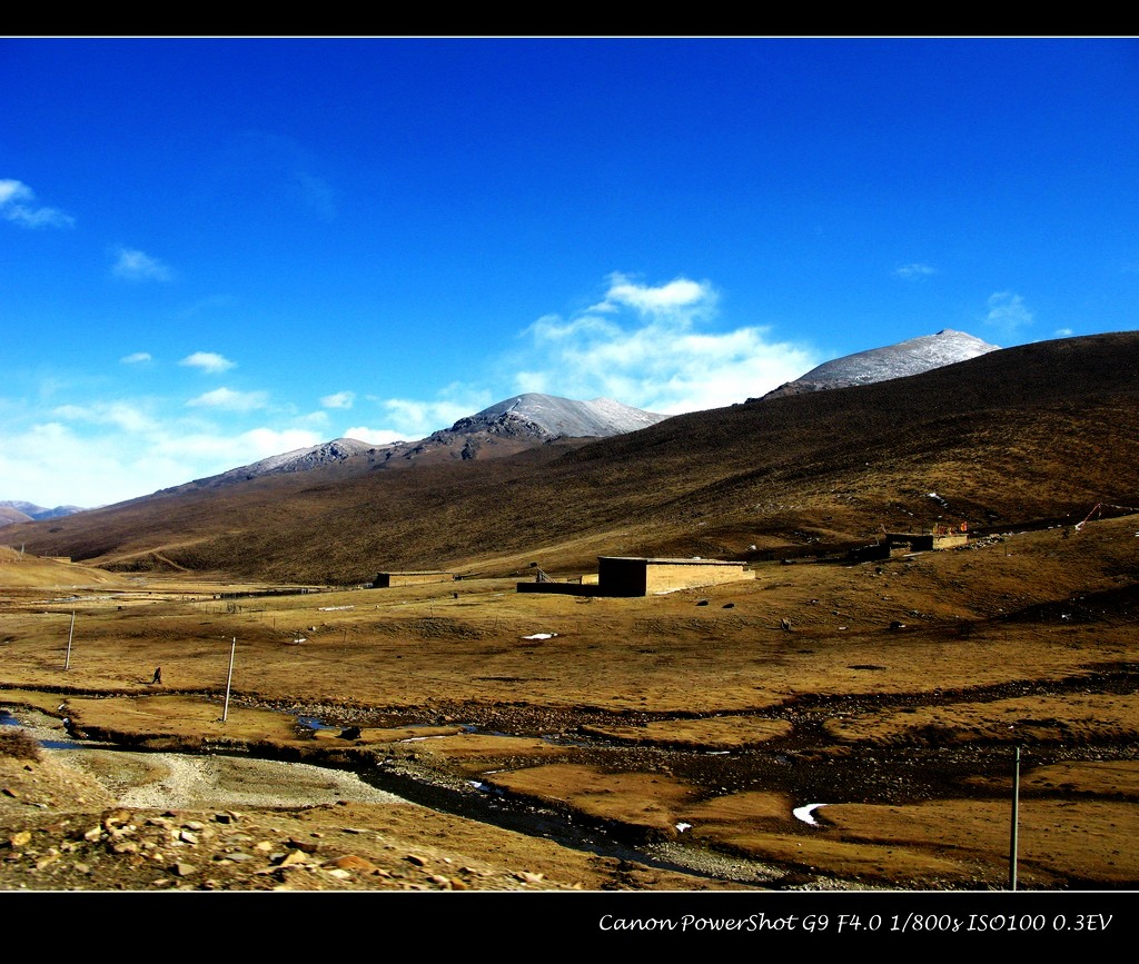
[[1133,39],[0,39],[0,499],[1137,327]]

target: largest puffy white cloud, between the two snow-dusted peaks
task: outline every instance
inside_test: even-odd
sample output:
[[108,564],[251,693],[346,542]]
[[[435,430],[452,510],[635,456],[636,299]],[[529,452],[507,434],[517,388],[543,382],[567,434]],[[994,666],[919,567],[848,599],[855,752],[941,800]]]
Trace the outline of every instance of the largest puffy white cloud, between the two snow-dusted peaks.
[[605,396],[675,414],[757,397],[819,363],[802,346],[770,340],[767,328],[699,330],[716,303],[707,282],[650,287],[613,274],[605,298],[584,313],[544,315],[526,329],[531,348],[516,390]]

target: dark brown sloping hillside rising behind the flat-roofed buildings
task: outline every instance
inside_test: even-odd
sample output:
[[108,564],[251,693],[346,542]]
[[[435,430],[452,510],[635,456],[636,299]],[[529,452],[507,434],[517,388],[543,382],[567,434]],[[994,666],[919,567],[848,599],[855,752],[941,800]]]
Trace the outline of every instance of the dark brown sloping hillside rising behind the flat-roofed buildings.
[[584,571],[598,554],[819,554],[939,519],[1076,522],[1139,504],[1137,363],[1139,332],[1038,343],[509,458],[347,460],[335,477],[156,494],[11,526],[6,542],[115,568],[354,583],[427,566]]

